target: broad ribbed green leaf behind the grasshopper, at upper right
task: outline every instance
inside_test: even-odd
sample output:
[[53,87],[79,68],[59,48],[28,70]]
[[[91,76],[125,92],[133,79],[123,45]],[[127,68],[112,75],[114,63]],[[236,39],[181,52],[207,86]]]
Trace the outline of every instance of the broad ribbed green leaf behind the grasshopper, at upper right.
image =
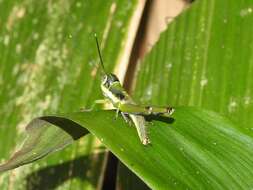
[[135,99],[213,110],[253,134],[252,10],[249,0],[195,1],[140,65]]

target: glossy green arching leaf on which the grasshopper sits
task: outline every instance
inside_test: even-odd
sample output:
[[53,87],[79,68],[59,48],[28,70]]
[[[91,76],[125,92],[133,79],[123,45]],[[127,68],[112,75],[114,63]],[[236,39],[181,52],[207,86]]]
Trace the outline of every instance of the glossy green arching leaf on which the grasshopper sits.
[[115,120],[112,111],[39,118],[53,121],[51,127],[66,126],[54,122],[65,119],[80,125],[73,130],[82,126],[96,135],[153,189],[249,189],[253,185],[252,138],[214,112],[178,107],[173,118],[147,118],[149,146],[141,144],[133,126],[122,118]]

